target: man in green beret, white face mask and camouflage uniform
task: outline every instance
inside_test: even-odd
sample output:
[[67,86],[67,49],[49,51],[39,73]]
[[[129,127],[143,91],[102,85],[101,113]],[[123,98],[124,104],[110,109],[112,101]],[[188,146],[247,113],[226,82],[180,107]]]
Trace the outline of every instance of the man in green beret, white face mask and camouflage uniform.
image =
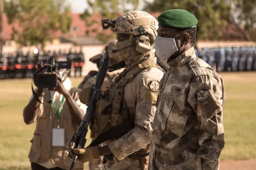
[[158,16],[161,79],[152,125],[149,170],[218,170],[224,147],[222,78],[194,51],[198,20],[186,10]]

